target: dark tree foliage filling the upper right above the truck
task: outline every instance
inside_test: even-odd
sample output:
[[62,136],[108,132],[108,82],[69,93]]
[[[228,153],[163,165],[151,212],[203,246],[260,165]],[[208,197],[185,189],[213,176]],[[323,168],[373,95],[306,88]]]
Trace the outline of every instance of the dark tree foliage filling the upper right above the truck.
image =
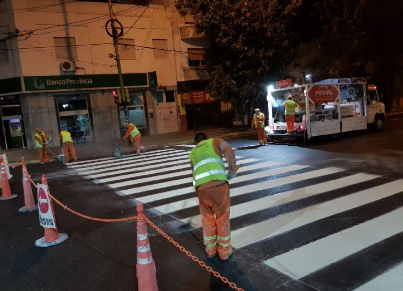
[[[402,77],[401,0],[177,0],[211,41],[209,89],[258,105],[268,82],[313,72],[360,75],[397,89]],[[393,76],[385,77],[389,68]],[[393,79],[393,80],[392,80]]]

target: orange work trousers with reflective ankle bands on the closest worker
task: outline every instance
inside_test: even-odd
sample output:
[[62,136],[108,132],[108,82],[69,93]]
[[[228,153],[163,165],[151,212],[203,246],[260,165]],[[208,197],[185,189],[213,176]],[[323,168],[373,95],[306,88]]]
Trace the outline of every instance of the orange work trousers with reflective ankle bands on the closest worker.
[[229,185],[223,182],[197,190],[197,197],[206,252],[209,256],[215,256],[218,252],[221,259],[226,259],[231,250]]

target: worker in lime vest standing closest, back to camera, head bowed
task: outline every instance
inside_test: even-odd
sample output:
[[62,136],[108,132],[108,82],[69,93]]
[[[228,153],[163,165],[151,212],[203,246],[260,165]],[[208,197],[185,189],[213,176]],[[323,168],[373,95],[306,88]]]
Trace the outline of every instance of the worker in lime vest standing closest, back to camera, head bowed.
[[[230,192],[228,179],[235,176],[236,159],[231,146],[221,138],[196,135],[198,143],[189,154],[193,185],[199,202],[203,240],[207,255],[217,253],[222,260],[232,254],[230,229]],[[228,162],[228,176],[222,156]]]

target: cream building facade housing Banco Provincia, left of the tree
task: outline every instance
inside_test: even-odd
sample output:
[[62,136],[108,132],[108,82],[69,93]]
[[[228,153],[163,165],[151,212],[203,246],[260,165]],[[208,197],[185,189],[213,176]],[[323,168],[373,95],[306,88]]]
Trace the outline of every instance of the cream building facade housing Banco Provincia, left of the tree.
[[[192,19],[173,0],[126,3],[113,3],[113,14],[129,121],[144,135],[224,125],[228,106],[200,93],[209,42],[195,34]],[[3,0],[0,14],[0,147],[34,148],[37,126],[51,146],[61,128],[75,142],[119,139],[124,113],[114,103],[119,79],[108,3]],[[206,98],[182,105],[182,94]]]

